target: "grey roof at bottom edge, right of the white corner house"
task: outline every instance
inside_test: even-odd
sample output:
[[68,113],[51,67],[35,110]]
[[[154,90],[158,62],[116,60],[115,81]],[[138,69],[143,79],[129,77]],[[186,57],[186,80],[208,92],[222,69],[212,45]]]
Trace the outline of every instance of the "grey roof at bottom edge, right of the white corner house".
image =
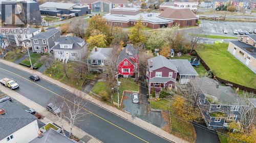
[[41,138],[35,138],[30,143],[74,143],[75,141],[72,141],[68,137],[64,136],[63,134],[55,131],[54,129],[50,129],[43,133],[43,136]]

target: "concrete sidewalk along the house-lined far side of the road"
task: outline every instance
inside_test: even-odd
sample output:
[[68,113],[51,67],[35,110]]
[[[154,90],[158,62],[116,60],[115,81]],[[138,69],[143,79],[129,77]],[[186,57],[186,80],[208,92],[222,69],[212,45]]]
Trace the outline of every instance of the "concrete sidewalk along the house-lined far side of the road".
[[20,65],[17,65],[15,63],[11,63],[11,62],[8,62],[8,61],[5,61],[5,60],[0,60],[1,63],[3,64],[6,64],[8,66],[11,66],[13,68],[16,68],[16,69],[19,69],[19,70],[23,70],[23,71],[26,71],[30,74],[37,74],[38,76],[40,76],[41,78],[45,79],[45,80],[48,80],[49,82],[53,83],[53,84],[56,84],[58,85],[59,87],[65,89],[65,90],[68,90],[70,91],[71,93],[75,94],[75,95],[82,95],[82,97],[88,101],[91,101],[92,103],[114,113],[115,115],[127,120],[127,121],[130,121],[131,123],[133,124],[136,124],[138,126],[140,126],[141,128],[145,129],[145,130],[148,130],[152,133],[155,133],[161,137],[164,137],[170,141],[173,141],[173,142],[187,142],[186,140],[183,140],[173,134],[169,134],[167,132],[165,132],[164,130],[162,130],[161,128],[158,128],[157,126],[154,126],[146,121],[143,121],[139,118],[133,118],[132,115],[130,115],[129,113],[126,113],[126,112],[123,112],[115,107],[112,107],[104,102],[101,102],[91,96],[89,96],[88,94],[82,92],[82,91],[79,91],[79,90],[76,90],[75,88],[72,88],[72,87],[69,87],[68,85],[64,84],[64,83],[61,83],[60,81],[58,80],[55,80],[55,79],[52,79],[38,71],[34,71],[34,70],[31,70],[31,69],[28,69],[26,67],[23,67],[23,66],[20,66]]

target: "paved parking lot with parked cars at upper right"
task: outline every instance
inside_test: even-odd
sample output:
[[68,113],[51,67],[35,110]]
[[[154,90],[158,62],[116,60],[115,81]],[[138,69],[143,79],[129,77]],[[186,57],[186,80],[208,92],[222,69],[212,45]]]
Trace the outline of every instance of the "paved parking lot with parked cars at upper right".
[[[234,30],[241,29],[243,32],[248,30],[255,30],[256,23],[253,22],[230,22],[230,21],[210,21],[201,20],[202,30],[206,35],[223,35],[223,36],[237,36],[233,34]],[[228,34],[222,32],[223,28],[226,28]],[[253,34],[252,34],[253,35]]]

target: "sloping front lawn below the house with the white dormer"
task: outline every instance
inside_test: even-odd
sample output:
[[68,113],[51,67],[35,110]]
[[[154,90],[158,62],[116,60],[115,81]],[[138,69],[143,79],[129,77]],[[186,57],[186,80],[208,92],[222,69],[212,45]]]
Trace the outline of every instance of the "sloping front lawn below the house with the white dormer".
[[56,62],[51,68],[47,68],[44,74],[52,77],[53,79],[59,80],[62,83],[65,83],[67,85],[70,85],[73,88],[76,88],[77,90],[82,89],[83,82],[85,80],[85,75],[83,74],[82,79],[79,79],[78,82],[74,81],[72,79],[72,74],[74,72],[74,67],[77,66],[75,63],[68,62],[66,65],[67,68],[67,74],[69,78],[66,77],[65,73],[63,72],[63,66],[62,62]]

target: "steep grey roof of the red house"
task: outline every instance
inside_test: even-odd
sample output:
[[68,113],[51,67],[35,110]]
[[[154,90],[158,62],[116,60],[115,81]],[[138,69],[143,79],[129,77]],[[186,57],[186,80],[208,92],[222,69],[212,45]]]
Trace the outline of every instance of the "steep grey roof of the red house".
[[[127,49],[128,53],[126,53],[126,49]],[[132,64],[134,64],[134,62],[130,59],[130,57],[135,58],[135,55],[138,55],[138,54],[139,54],[139,51],[137,49],[135,49],[132,44],[128,44],[119,53],[117,63],[119,64],[126,58],[128,61],[130,61]]]

